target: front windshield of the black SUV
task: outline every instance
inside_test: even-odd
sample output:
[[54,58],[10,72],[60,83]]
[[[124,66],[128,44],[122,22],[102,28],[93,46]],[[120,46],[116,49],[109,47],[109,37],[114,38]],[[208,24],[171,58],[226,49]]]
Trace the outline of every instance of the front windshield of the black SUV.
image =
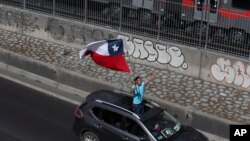
[[153,118],[146,120],[144,125],[157,141],[166,140],[181,128],[180,122],[166,111],[162,111]]

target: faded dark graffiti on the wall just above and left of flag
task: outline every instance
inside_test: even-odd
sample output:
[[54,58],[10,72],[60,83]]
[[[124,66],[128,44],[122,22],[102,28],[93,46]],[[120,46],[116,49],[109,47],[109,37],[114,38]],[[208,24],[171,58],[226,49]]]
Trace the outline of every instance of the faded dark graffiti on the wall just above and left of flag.
[[53,18],[49,19],[46,31],[50,32],[51,37],[54,40],[62,40],[67,43],[85,44],[87,37],[90,37],[90,39],[93,40],[114,38],[112,34],[106,35],[99,29],[90,29],[80,25],[71,25]]

